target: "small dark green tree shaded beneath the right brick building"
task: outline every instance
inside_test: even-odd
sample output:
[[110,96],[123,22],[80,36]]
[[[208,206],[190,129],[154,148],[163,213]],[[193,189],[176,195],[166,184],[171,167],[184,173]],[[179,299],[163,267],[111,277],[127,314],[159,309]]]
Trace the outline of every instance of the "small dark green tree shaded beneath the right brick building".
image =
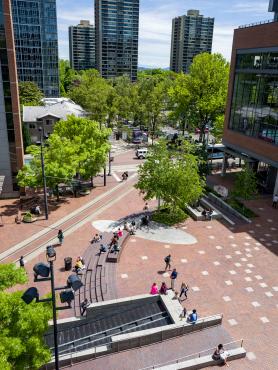
[[258,193],[258,180],[256,173],[249,165],[236,174],[232,196],[244,200],[252,199]]

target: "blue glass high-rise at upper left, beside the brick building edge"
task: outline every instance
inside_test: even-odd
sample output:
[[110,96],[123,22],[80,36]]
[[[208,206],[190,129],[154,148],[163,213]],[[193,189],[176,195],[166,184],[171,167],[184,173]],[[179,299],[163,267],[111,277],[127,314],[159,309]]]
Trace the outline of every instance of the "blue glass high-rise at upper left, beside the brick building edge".
[[59,96],[56,0],[11,0],[19,81]]

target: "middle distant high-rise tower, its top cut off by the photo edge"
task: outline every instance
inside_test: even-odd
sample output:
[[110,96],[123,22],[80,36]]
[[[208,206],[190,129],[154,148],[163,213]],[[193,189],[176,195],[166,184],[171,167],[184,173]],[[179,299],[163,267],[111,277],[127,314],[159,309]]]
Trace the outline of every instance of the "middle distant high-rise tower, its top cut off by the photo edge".
[[104,78],[137,78],[139,0],[95,0],[96,66]]

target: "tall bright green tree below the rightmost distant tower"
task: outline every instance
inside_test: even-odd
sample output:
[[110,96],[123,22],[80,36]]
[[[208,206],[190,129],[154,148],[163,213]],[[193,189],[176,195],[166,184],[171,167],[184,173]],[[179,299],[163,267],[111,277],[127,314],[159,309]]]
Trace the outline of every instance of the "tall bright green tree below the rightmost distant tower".
[[202,53],[193,59],[187,81],[192,120],[199,126],[200,141],[205,127],[223,115],[226,106],[229,64],[221,54]]

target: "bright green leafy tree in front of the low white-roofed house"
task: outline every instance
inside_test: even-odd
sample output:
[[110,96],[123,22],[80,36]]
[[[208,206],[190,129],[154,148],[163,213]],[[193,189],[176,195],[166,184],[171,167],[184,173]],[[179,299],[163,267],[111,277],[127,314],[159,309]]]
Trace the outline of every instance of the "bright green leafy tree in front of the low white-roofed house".
[[[110,133],[110,129],[100,130],[97,122],[87,118],[68,116],[66,121],[57,122],[43,148],[47,186],[54,189],[59,183],[70,184],[77,173],[84,179],[95,176],[106,162]],[[33,159],[18,172],[18,184],[40,187],[41,148],[31,145],[27,152]]]

